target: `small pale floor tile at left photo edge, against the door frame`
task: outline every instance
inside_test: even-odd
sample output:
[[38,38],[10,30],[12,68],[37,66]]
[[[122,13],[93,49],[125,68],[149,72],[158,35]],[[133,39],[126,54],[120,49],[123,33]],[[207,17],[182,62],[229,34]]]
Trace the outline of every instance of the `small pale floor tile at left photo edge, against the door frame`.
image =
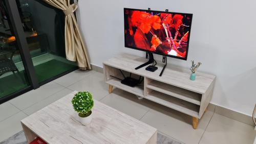
[[0,122],[2,122],[4,119],[12,116],[13,114],[18,113],[20,110],[14,107],[9,102],[5,102],[0,105]]

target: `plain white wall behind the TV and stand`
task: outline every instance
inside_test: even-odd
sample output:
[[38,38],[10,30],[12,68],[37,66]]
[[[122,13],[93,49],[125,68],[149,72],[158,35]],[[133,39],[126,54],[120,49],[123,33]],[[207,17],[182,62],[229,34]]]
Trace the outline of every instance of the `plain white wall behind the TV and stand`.
[[168,62],[184,67],[190,60],[202,62],[201,71],[217,76],[211,103],[251,115],[256,103],[255,6],[255,0],[79,1],[77,14],[91,63],[102,66],[119,53],[145,55],[124,47],[124,7],[193,13],[188,60]]

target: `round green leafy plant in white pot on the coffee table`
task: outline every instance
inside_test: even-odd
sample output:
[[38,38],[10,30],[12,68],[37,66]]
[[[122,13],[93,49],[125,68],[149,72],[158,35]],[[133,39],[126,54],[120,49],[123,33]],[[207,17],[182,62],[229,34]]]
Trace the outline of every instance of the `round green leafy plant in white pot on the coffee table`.
[[82,125],[89,125],[92,121],[92,108],[94,105],[92,94],[89,91],[79,91],[72,99],[72,105],[79,115]]

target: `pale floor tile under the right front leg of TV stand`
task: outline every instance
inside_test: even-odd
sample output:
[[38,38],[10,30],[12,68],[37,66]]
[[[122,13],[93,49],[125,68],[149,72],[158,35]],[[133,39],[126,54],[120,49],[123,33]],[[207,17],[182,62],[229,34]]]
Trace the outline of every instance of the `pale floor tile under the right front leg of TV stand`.
[[184,143],[198,143],[212,114],[212,111],[204,113],[195,130],[191,125],[191,116],[156,104],[156,107],[148,111],[141,121]]

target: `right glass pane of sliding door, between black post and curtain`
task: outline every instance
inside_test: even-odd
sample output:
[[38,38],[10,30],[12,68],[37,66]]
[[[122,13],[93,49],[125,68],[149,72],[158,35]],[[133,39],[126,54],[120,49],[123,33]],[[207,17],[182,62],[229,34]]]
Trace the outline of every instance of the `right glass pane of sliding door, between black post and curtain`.
[[65,15],[41,0],[16,0],[38,82],[77,68],[65,55]]

